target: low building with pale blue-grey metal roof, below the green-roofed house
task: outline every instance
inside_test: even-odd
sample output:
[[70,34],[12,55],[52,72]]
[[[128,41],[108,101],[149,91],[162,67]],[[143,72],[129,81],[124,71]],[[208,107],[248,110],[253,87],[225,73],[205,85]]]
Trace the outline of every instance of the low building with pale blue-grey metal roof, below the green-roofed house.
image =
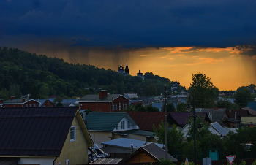
[[[106,153],[110,153],[110,158],[127,158],[133,151],[138,150],[143,145],[146,145],[149,142],[136,140],[136,139],[127,139],[127,138],[118,138],[102,142],[103,149]],[[164,145],[155,143],[159,148],[164,147]]]

